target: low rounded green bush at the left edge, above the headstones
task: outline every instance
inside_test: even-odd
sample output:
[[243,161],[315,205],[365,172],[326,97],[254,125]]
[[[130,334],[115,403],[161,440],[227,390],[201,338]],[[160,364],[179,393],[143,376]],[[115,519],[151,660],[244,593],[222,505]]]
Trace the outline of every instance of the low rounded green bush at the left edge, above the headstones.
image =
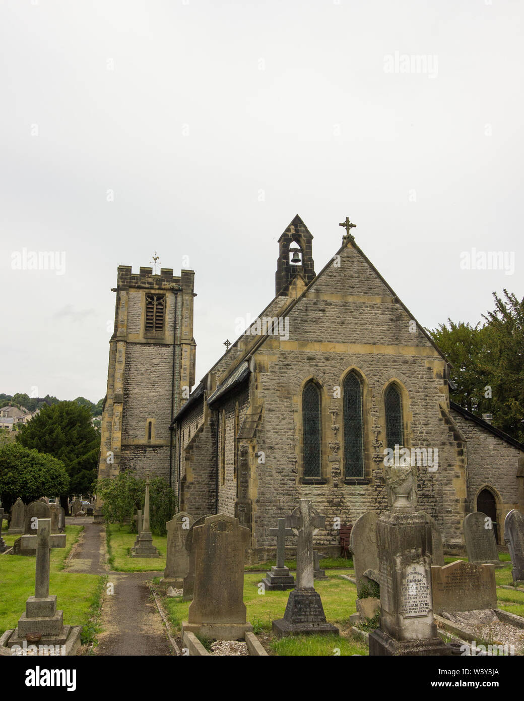
[[4,511],[20,498],[26,504],[41,496],[67,493],[64,463],[18,443],[0,445],[0,498]]

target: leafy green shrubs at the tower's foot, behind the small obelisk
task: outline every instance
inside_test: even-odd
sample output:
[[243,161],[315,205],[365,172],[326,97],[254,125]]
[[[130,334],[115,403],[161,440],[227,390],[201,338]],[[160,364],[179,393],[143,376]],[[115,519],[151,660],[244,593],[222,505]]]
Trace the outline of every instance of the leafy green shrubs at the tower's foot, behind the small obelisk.
[[[120,472],[116,477],[98,479],[95,492],[102,499],[102,515],[109,523],[120,526],[130,519],[132,530],[135,511],[144,510],[146,480],[137,479],[130,470]],[[177,513],[177,497],[162,477],[149,481],[149,525],[153,533],[165,535],[165,524]]]

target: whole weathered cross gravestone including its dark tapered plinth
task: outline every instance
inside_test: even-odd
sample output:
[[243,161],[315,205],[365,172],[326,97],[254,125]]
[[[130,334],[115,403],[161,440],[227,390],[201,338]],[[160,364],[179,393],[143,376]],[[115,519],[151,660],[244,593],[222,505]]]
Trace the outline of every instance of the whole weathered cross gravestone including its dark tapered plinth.
[[313,575],[313,535],[326,527],[321,516],[308,499],[300,499],[298,507],[286,517],[286,526],[298,532],[296,546],[296,588],[289,594],[284,618],[273,621],[277,637],[291,634],[333,633],[338,628],[326,621],[320,594],[315,592]]

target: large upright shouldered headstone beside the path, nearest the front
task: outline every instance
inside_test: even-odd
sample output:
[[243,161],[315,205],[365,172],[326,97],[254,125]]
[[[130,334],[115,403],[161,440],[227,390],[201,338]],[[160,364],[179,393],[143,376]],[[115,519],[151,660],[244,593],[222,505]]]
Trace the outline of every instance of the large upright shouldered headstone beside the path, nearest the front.
[[186,632],[216,640],[244,639],[253,627],[246,622],[244,559],[250,531],[225,514],[208,516],[193,527],[195,590]]

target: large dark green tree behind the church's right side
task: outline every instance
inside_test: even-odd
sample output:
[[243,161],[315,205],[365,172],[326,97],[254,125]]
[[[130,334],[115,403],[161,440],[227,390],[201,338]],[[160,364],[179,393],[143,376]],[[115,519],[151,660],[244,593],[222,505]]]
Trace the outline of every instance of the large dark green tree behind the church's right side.
[[524,299],[507,290],[493,297],[483,325],[448,319],[429,333],[453,365],[450,397],[477,416],[492,414],[493,426],[524,442]]

